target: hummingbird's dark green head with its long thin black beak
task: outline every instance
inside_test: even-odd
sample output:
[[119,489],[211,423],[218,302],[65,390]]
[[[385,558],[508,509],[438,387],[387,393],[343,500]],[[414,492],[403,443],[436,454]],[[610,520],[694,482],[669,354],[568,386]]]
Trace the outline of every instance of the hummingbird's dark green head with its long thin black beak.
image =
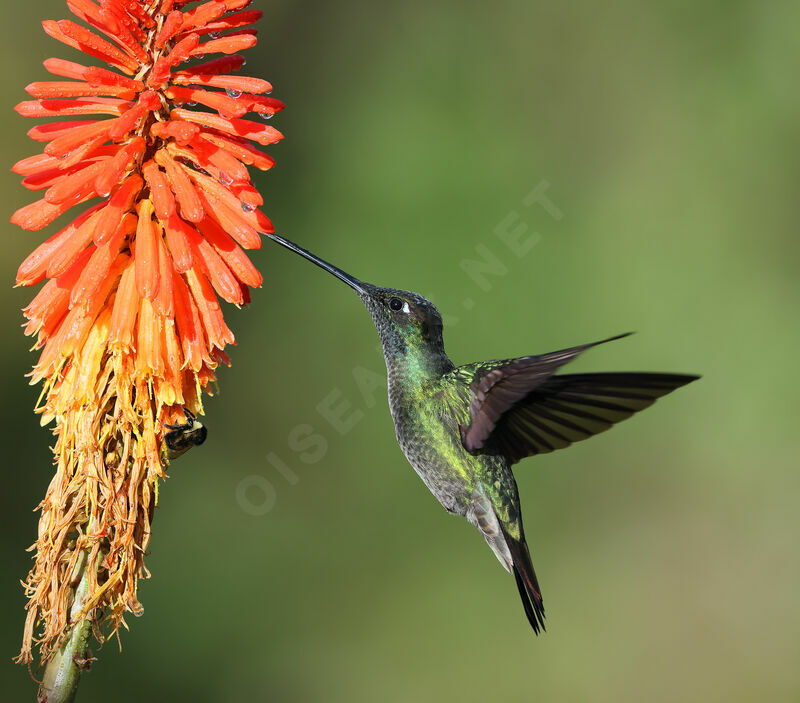
[[442,317],[430,300],[407,290],[364,283],[288,239],[277,234],[268,233],[267,236],[350,286],[367,306],[380,335],[384,353],[401,355],[414,350],[444,352]]

